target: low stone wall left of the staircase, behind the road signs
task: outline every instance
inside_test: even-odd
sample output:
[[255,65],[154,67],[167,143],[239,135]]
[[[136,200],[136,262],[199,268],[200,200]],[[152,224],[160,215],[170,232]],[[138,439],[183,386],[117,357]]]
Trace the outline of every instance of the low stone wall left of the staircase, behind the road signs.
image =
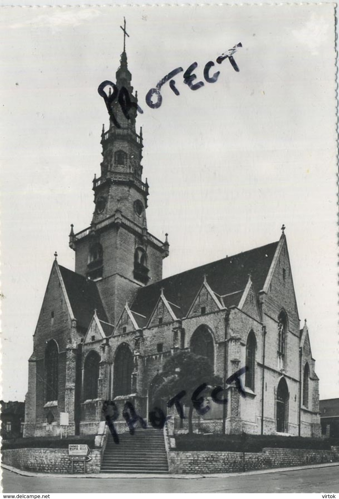
[[[99,473],[101,450],[89,452],[91,461],[86,463],[86,473]],[[71,473],[68,449],[6,449],[2,451],[2,462],[18,470],[40,473]],[[74,473],[84,473],[84,465],[74,462]]]

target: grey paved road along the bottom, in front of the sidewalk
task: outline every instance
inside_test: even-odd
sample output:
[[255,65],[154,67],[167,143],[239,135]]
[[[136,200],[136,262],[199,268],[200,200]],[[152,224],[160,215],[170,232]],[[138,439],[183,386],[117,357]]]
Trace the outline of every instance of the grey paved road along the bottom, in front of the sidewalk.
[[65,478],[22,477],[2,471],[3,493],[339,493],[339,467],[217,478]]

